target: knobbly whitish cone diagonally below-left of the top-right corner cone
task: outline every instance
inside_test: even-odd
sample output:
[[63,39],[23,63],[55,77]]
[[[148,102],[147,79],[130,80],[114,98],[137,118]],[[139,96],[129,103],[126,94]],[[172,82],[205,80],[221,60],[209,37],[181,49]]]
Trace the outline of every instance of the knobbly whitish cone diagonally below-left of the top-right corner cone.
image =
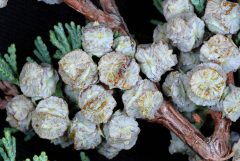
[[180,14],[167,23],[167,38],[183,52],[191,51],[202,43],[204,22],[194,13]]

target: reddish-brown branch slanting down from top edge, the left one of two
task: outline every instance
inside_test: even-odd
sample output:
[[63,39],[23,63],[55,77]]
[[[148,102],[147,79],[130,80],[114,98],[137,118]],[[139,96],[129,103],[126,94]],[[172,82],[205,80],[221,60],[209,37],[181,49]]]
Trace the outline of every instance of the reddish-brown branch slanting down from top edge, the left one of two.
[[64,0],[64,2],[76,11],[82,13],[87,19],[107,23],[108,26],[114,30],[119,31],[124,35],[128,34],[120,17],[115,14],[103,12],[98,9],[91,0]]

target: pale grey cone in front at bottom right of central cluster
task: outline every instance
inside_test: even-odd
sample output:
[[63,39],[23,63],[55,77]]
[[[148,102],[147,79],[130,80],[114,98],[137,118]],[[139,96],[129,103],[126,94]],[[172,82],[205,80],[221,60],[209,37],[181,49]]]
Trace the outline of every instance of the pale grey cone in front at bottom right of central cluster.
[[134,118],[116,111],[107,124],[103,126],[106,141],[118,149],[131,149],[138,138],[140,129]]

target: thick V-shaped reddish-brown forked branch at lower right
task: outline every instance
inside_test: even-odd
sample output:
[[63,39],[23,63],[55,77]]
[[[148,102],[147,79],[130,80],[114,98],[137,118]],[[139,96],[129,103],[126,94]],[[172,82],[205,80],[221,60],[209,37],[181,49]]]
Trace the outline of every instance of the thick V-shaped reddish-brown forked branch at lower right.
[[174,132],[204,160],[221,161],[229,155],[228,140],[231,121],[219,117],[213,119],[216,122],[216,127],[211,138],[205,138],[186,118],[174,109],[170,102],[163,103],[156,118],[152,121],[163,124]]

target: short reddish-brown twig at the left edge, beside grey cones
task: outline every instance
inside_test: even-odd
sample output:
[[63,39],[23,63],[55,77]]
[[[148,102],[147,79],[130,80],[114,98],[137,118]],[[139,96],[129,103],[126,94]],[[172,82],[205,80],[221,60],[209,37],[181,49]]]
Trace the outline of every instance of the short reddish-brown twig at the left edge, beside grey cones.
[[19,94],[17,87],[6,81],[0,81],[0,91],[4,94],[4,99],[0,98],[0,109],[4,109],[7,103]]

